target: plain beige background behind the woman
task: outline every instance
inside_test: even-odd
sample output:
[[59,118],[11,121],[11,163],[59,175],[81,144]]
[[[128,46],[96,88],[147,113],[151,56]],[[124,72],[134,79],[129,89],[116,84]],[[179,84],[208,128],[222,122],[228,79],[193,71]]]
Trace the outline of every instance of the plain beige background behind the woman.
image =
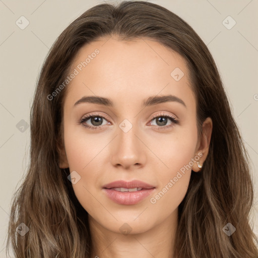
[[[258,0],[149,2],[159,4],[184,19],[213,54],[252,161],[256,203],[253,225],[254,232],[258,234]],[[22,126],[26,125],[25,121],[29,123],[32,97],[43,60],[62,30],[99,3],[103,1],[0,0],[1,258],[6,257],[5,237],[11,198],[28,166],[30,130]],[[29,21],[24,30],[16,25],[21,16]],[[235,26],[228,29],[234,21]]]

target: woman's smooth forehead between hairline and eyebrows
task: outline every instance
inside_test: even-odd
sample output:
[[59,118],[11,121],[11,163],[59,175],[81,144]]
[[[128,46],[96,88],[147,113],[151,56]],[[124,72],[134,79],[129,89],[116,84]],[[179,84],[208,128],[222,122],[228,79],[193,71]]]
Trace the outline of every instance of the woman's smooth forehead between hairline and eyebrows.
[[84,95],[124,102],[173,94],[195,104],[185,59],[148,38],[121,41],[111,37],[93,41],[78,51],[71,73],[75,70],[77,75],[67,89],[71,103]]

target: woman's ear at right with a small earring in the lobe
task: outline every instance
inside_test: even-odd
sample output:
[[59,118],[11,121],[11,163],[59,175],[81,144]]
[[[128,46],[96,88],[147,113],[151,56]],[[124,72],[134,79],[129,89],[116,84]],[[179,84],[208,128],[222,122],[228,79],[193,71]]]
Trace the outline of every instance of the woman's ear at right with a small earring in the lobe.
[[[197,153],[202,153],[202,157],[198,160],[200,165],[203,165],[204,161],[208,156],[211,136],[212,136],[212,119],[211,117],[207,117],[206,120],[203,122],[203,132],[202,132],[201,139],[199,139],[199,143],[196,151]],[[198,167],[198,164],[195,162],[191,169],[195,172],[199,172],[202,168]]]

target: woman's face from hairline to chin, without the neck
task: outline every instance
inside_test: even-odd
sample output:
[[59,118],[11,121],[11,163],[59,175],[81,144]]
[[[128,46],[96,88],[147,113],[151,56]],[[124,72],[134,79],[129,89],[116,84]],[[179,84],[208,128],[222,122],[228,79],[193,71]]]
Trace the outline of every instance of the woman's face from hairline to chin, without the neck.
[[185,60],[155,41],[112,37],[82,47],[72,73],[60,167],[69,166],[89,219],[117,233],[175,220],[191,169],[199,171],[192,161],[207,156]]

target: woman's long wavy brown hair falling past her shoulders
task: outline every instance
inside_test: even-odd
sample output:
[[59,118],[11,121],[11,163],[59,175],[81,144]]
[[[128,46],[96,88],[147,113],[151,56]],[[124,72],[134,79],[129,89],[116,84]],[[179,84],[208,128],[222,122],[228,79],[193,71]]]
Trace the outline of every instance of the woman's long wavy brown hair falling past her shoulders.
[[[90,257],[88,213],[78,202],[68,169],[58,166],[62,148],[62,107],[67,86],[49,100],[66,79],[78,50],[100,37],[150,38],[182,55],[202,122],[213,121],[209,154],[202,172],[191,173],[179,205],[175,258],[257,258],[249,224],[253,185],[249,157],[232,116],[211,53],[197,33],[167,9],[148,2],[97,5],[71,23],[44,61],[31,109],[30,166],[12,200],[7,250],[16,257]],[[29,231],[21,236],[16,228]],[[236,231],[228,236],[223,228]]]

